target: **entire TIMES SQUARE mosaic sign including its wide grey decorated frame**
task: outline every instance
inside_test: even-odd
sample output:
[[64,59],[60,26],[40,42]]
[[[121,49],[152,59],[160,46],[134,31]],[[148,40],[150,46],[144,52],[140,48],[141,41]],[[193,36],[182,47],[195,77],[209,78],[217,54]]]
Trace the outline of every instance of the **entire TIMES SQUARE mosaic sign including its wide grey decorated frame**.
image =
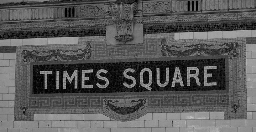
[[102,48],[103,41],[18,47],[14,120],[101,113],[129,121],[154,112],[224,112],[224,119],[245,119],[244,41],[191,41],[173,46],[146,39],[126,51]]

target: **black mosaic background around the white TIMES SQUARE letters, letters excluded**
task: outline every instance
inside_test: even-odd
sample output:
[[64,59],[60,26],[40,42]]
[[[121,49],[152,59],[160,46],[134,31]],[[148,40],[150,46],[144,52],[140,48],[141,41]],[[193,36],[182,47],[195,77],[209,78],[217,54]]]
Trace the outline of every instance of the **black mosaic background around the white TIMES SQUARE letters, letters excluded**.
[[[204,83],[204,66],[217,66],[217,69],[207,70],[212,77],[207,78],[207,82],[217,82],[216,86],[203,86]],[[156,68],[160,68],[160,82],[165,83],[165,68],[169,67],[169,84],[164,88],[159,87],[156,82]],[[174,76],[175,67],[180,68],[184,87],[180,83],[176,83],[175,87],[171,87]],[[187,87],[187,67],[197,67],[199,69],[199,81],[201,86],[196,84],[196,79],[191,78],[190,86]],[[129,76],[136,79],[136,85],[133,88],[127,88],[123,85],[124,82],[132,84],[133,81],[123,76],[125,69],[134,69],[135,72],[128,72]],[[148,61],[148,62],[121,62],[121,63],[83,63],[83,64],[56,64],[56,65],[34,65],[33,66],[33,94],[50,94],[50,93],[113,93],[113,92],[144,92],[148,89],[140,85],[140,71],[144,68],[149,68],[152,71],[153,79],[150,87],[151,91],[196,91],[196,90],[225,90],[225,58],[221,59],[204,59],[204,60],[172,60],[172,61]],[[93,69],[93,73],[85,73],[89,80],[85,80],[85,85],[93,85],[93,89],[81,88],[82,70]],[[104,85],[104,80],[98,79],[96,73],[100,69],[107,70],[107,74],[100,75],[109,80],[109,85],[105,89],[97,87],[97,82]],[[69,76],[74,70],[78,70],[78,89],[74,89],[75,78],[69,83],[66,80],[66,89],[63,89],[63,71],[67,71]],[[48,89],[44,89],[44,74],[40,71],[52,71],[53,74],[48,74]],[[59,81],[60,89],[56,89],[56,71],[60,71]],[[195,74],[195,70],[191,70],[191,74]],[[149,83],[149,73],[144,72],[144,84]]]

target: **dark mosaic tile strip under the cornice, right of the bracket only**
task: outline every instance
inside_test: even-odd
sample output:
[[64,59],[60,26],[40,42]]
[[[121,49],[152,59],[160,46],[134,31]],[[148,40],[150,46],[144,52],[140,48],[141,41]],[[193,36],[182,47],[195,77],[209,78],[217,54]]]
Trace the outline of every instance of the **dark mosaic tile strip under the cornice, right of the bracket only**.
[[179,32],[209,32],[209,31],[233,31],[255,30],[256,21],[217,21],[217,22],[193,22],[193,23],[159,23],[143,24],[143,33],[179,33]]

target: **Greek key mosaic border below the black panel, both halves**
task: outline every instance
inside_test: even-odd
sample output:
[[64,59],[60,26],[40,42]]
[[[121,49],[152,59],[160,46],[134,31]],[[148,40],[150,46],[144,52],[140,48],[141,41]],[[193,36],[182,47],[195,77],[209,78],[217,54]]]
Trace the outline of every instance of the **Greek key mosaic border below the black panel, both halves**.
[[[159,106],[204,106],[228,105],[229,98],[226,94],[201,94],[201,95],[175,95],[175,96],[147,96],[140,97],[148,100],[149,107]],[[107,97],[110,98],[110,97]],[[102,108],[104,97],[30,97],[30,108]],[[117,97],[118,98],[118,97]]]

